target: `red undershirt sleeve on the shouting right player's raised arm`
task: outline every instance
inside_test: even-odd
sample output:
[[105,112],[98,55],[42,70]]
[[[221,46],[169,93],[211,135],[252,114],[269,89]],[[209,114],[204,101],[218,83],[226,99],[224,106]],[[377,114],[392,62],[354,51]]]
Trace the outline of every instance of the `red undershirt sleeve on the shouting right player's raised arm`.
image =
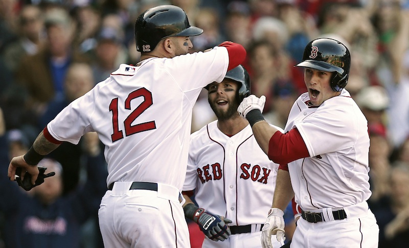
[[268,144],[268,158],[278,164],[309,157],[307,146],[297,128],[283,134],[276,132]]

